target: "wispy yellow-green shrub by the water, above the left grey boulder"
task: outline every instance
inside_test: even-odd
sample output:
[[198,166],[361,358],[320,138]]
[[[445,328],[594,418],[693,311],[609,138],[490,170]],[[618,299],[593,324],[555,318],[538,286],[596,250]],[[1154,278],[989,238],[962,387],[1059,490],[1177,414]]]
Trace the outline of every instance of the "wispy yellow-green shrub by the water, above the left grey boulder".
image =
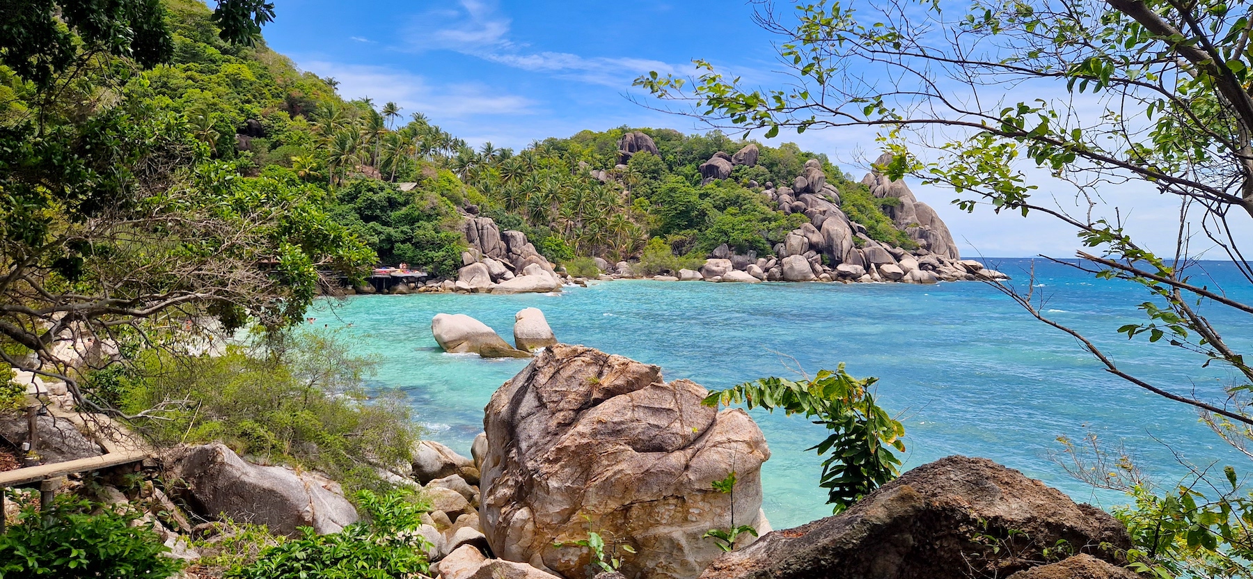
[[327,472],[348,488],[386,489],[376,466],[408,460],[416,440],[407,406],[371,399],[362,378],[373,361],[352,356],[333,333],[301,331],[222,356],[143,353],[125,410],[189,404],[144,424],[159,444],[222,441]]

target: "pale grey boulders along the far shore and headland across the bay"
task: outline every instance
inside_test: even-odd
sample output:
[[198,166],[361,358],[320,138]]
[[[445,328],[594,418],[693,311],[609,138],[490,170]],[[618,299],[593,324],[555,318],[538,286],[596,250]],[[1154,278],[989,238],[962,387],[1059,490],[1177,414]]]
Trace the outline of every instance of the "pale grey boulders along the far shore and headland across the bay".
[[[619,144],[629,158],[639,150],[655,150],[643,133],[629,133]],[[652,145],[652,147],[650,147]],[[876,162],[892,160],[885,154]],[[700,165],[704,182],[727,179],[736,165],[757,163],[756,145],[734,155],[718,153]],[[621,165],[620,165],[621,167]],[[608,173],[595,172],[598,178]],[[827,183],[822,164],[809,159],[803,174],[789,185],[767,182],[749,185],[764,194],[783,214],[803,214],[808,222],[791,231],[772,248],[773,256],[757,252],[736,253],[727,244],[707,256],[697,269],[637,273],[638,262],[609,263],[595,257],[599,281],[649,278],[657,281],[707,282],[842,282],[842,283],[937,283],[956,281],[997,281],[1009,276],[974,259],[962,259],[947,226],[928,204],[918,201],[902,180],[891,180],[878,170],[861,182],[876,199],[882,199],[892,226],[903,232],[916,248],[906,249],[875,241],[867,228],[840,209],[840,192]],[[400,283],[392,293],[523,293],[558,292],[568,286],[584,286],[590,279],[570,276],[564,267],[550,263],[535,249],[526,234],[505,229],[489,217],[466,213],[461,232],[469,248],[456,279],[430,279]],[[373,293],[370,287],[358,293]]]

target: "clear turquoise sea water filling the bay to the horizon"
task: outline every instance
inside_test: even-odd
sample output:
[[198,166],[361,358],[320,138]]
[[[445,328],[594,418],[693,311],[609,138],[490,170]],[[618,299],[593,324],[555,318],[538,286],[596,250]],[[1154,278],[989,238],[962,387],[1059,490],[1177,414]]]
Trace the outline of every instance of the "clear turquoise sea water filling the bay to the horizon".
[[[1026,286],[1024,259],[992,267]],[[1230,266],[1207,264],[1233,297],[1250,300]],[[1114,330],[1136,322],[1135,287],[1095,282],[1071,268],[1036,263],[1037,292],[1058,321],[1089,328],[1120,365],[1178,392],[1220,392],[1225,372],[1197,370],[1168,346],[1129,345]],[[1109,508],[1118,494],[1093,491],[1048,454],[1056,437],[1088,430],[1123,444],[1140,466],[1169,482],[1184,475],[1170,447],[1194,462],[1247,459],[1227,447],[1197,415],[1101,371],[1076,342],[1035,321],[1007,297],[977,282],[912,284],[699,283],[618,281],[560,296],[413,295],[325,301],[315,325],[345,327],[357,351],[377,355],[373,386],[400,389],[429,437],[469,455],[482,430],[482,407],[525,360],[447,355],[431,337],[431,317],[467,313],[511,341],[514,313],[539,307],[558,340],[655,363],[667,380],[728,387],[763,376],[811,375],[847,362],[857,376],[878,376],[880,404],[901,412],[906,467],[952,455],[986,456],[1042,479],[1078,500]],[[1210,308],[1233,346],[1253,346],[1253,320]],[[794,358],[794,361],[792,358]],[[756,412],[773,452],[763,467],[764,509],[774,528],[826,516],[819,460],[804,449],[824,431],[801,419]],[[1168,447],[1170,446],[1170,447]]]

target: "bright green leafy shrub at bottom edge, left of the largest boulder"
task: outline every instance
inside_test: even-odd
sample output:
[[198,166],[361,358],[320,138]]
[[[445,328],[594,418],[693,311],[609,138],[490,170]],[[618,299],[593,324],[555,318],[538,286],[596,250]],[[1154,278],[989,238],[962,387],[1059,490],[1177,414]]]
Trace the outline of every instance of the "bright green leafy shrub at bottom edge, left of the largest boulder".
[[266,549],[251,565],[232,569],[232,579],[408,579],[430,571],[417,534],[422,508],[401,491],[376,495],[360,491],[357,504],[367,520],[333,535],[304,535]]

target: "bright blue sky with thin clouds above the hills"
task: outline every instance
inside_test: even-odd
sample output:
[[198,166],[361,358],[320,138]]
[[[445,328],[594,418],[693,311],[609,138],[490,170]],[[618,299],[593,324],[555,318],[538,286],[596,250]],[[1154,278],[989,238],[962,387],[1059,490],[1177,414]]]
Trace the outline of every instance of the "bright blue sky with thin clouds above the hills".
[[[476,145],[519,149],[536,139],[624,124],[708,130],[626,98],[643,96],[632,89],[635,76],[649,70],[687,73],[694,58],[753,83],[782,83],[774,73],[781,69],[774,38],[753,24],[754,5],[742,0],[276,4],[277,19],[266,28],[266,39],[297,66],[336,78],[347,98],[371,96],[378,105],[395,100],[406,115],[422,112]],[[827,153],[858,177],[866,159],[877,157],[870,132],[784,133],[774,140]],[[964,256],[1069,257],[1078,246],[1073,231],[1051,218],[967,214],[950,204],[952,192],[911,187],[945,219]],[[1045,193],[1051,187],[1045,183]],[[1059,198],[1073,194],[1058,189]],[[1178,208],[1145,193],[1111,190],[1106,201],[1121,203],[1124,214],[1125,207],[1135,207],[1131,229],[1169,242]]]

